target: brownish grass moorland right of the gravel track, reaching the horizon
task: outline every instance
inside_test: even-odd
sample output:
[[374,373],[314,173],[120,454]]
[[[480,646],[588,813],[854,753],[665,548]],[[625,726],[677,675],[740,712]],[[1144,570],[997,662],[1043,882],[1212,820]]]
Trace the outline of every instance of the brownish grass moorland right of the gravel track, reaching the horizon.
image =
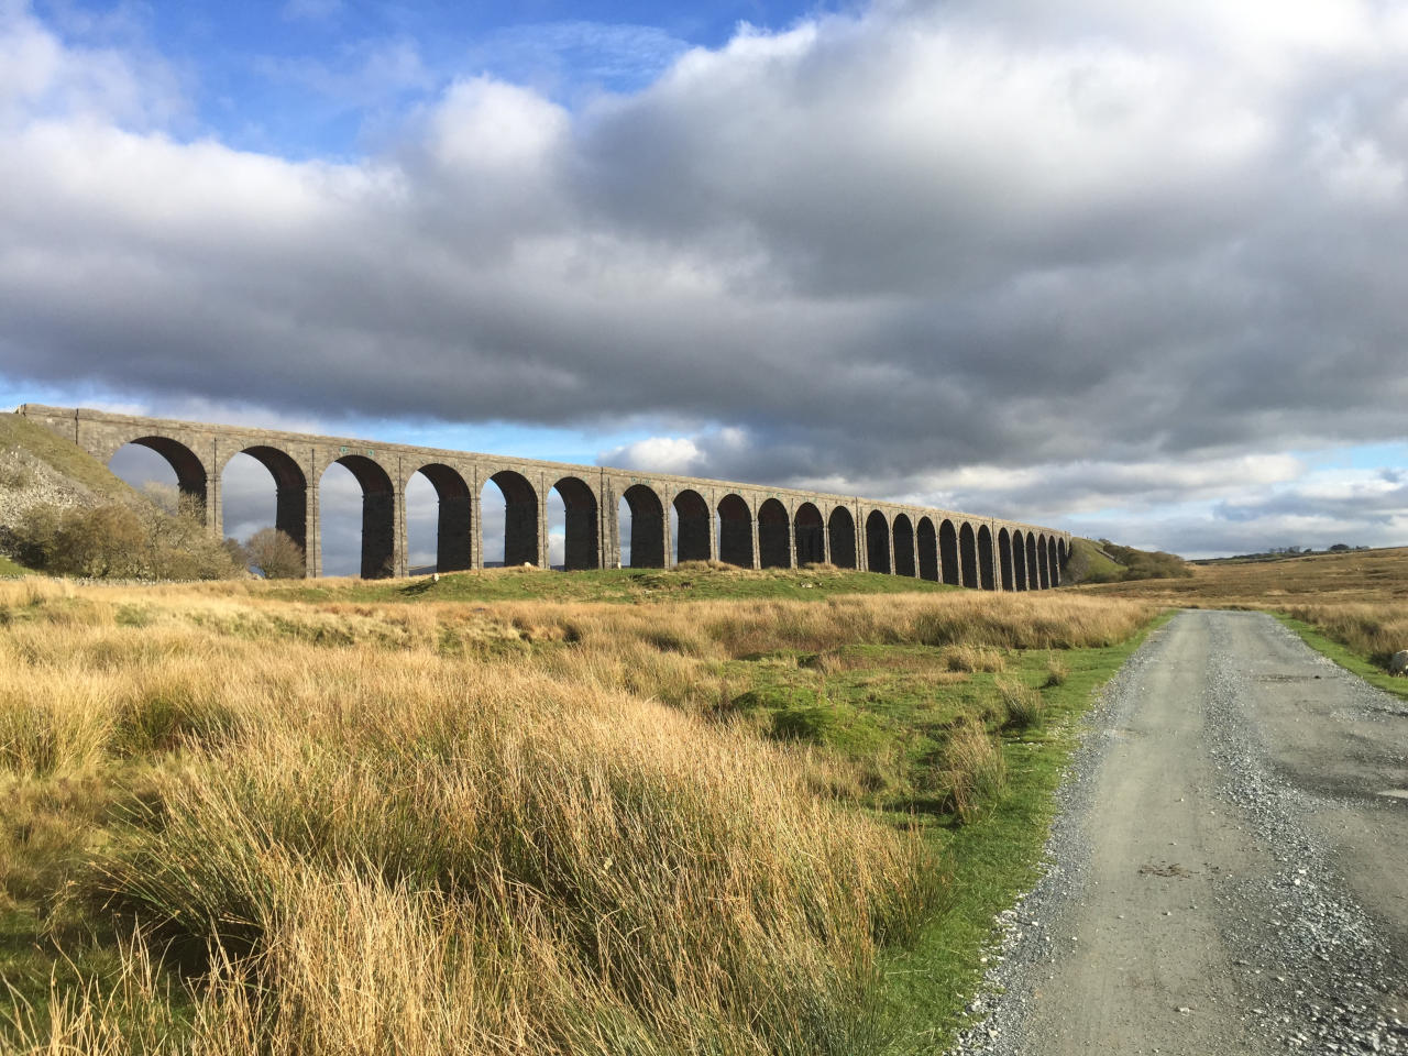
[[1408,548],[1224,560],[1191,567],[1190,579],[1108,583],[1079,590],[1160,605],[1266,610],[1342,666],[1408,697],[1408,679],[1387,672],[1390,658],[1408,649]]

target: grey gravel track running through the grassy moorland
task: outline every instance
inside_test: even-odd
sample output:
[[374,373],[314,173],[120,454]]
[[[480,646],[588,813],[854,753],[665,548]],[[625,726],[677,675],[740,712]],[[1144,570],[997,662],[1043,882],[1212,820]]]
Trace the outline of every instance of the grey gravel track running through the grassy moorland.
[[1095,722],[959,1052],[1408,1052],[1408,703],[1190,611]]

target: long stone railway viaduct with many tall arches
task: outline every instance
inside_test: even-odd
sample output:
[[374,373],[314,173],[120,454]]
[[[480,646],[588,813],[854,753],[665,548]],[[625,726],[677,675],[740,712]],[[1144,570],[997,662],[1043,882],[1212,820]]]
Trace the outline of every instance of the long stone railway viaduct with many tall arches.
[[[439,496],[441,572],[484,566],[480,493],[490,480],[504,494],[505,565],[548,567],[553,489],[566,507],[569,570],[621,563],[621,498],[631,510],[634,567],[705,559],[753,569],[831,562],[981,590],[1045,590],[1060,586],[1070,551],[1069,532],[856,496],[72,407],[24,404],[20,414],[104,465],[128,444],[158,452],[217,535],[224,534],[225,465],[235,455],[253,456],[273,474],[276,527],[303,546],[308,576],[322,574],[318,482],[334,462],[362,486],[362,576],[369,579],[408,573],[406,486],[417,473]],[[672,508],[677,532],[670,529]]]

